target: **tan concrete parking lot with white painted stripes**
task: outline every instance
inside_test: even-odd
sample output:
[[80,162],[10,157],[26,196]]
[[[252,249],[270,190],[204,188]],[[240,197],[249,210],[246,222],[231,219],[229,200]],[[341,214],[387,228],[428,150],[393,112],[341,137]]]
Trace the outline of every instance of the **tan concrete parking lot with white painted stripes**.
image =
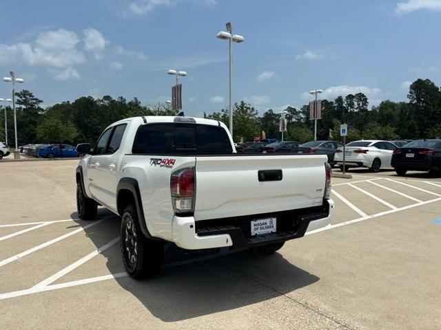
[[351,170],[331,225],[274,256],[170,245],[134,281],[119,218],[76,218],[77,164],[0,164],[0,329],[441,329],[440,178]]

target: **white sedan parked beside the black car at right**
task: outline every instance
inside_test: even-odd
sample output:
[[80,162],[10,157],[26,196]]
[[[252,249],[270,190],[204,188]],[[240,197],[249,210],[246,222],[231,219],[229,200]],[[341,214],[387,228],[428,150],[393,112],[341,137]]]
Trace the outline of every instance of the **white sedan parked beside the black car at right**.
[[[372,172],[378,172],[380,168],[391,168],[393,151],[398,148],[389,141],[360,140],[353,141],[345,146],[345,165],[351,167],[368,167]],[[337,149],[334,162],[343,169],[343,147]]]

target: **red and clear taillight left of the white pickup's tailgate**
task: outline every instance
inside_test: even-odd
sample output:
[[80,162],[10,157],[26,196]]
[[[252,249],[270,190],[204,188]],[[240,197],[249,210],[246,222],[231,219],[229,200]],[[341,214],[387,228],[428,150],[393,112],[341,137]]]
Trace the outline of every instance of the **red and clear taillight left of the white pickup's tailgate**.
[[176,170],[170,177],[170,190],[172,190],[172,204],[175,213],[194,212],[194,167]]

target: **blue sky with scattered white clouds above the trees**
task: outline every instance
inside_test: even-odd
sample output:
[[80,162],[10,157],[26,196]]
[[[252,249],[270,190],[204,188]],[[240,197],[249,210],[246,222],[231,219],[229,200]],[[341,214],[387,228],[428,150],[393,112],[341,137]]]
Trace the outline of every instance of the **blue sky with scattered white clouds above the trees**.
[[[370,104],[406,100],[409,82],[441,85],[441,0],[41,0],[4,1],[0,74],[25,78],[48,106],[91,95],[143,104],[170,99],[185,70],[186,115],[228,100],[225,23],[234,44],[234,100],[260,113],[362,91]],[[0,85],[8,97],[10,85]]]

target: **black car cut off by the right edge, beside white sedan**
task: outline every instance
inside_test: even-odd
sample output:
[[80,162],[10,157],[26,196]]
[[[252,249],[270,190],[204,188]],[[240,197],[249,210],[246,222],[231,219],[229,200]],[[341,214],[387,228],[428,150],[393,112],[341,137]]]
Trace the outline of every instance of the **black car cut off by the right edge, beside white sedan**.
[[393,151],[391,165],[398,175],[408,170],[441,173],[441,140],[416,140]]

